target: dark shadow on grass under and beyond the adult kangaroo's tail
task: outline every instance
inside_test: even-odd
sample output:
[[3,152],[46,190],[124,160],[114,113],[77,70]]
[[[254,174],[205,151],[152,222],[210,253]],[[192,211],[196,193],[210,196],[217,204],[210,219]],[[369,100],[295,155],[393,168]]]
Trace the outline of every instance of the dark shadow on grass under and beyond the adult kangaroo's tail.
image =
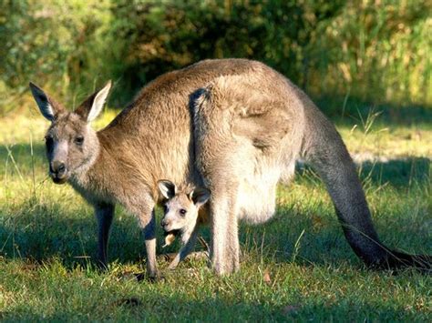
[[[240,240],[245,250],[257,259],[302,266],[339,267],[349,263],[364,267],[349,246],[334,211],[301,214],[291,207],[280,207],[275,217],[263,226],[243,225]],[[386,247],[408,253],[430,254],[427,225],[413,223],[412,217],[373,219],[378,236]],[[430,224],[429,224],[430,226]],[[210,236],[209,236],[210,237]]]

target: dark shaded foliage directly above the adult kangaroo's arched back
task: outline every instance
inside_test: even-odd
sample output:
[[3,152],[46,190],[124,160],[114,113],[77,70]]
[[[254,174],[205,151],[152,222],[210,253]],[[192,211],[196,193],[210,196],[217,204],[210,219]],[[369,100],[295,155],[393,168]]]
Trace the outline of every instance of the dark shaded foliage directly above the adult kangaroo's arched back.
[[112,35],[122,42],[122,90],[136,91],[160,74],[206,58],[261,60],[307,85],[308,46],[319,22],[340,4],[297,1],[118,1]]

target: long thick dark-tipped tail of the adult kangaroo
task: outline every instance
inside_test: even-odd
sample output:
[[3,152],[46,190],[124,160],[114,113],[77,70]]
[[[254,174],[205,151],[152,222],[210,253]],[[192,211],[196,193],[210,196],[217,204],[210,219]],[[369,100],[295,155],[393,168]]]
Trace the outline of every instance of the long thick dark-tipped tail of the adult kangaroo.
[[430,272],[432,257],[387,248],[372,223],[355,164],[331,122],[303,96],[305,132],[302,155],[324,180],[345,237],[368,267],[417,267]]

